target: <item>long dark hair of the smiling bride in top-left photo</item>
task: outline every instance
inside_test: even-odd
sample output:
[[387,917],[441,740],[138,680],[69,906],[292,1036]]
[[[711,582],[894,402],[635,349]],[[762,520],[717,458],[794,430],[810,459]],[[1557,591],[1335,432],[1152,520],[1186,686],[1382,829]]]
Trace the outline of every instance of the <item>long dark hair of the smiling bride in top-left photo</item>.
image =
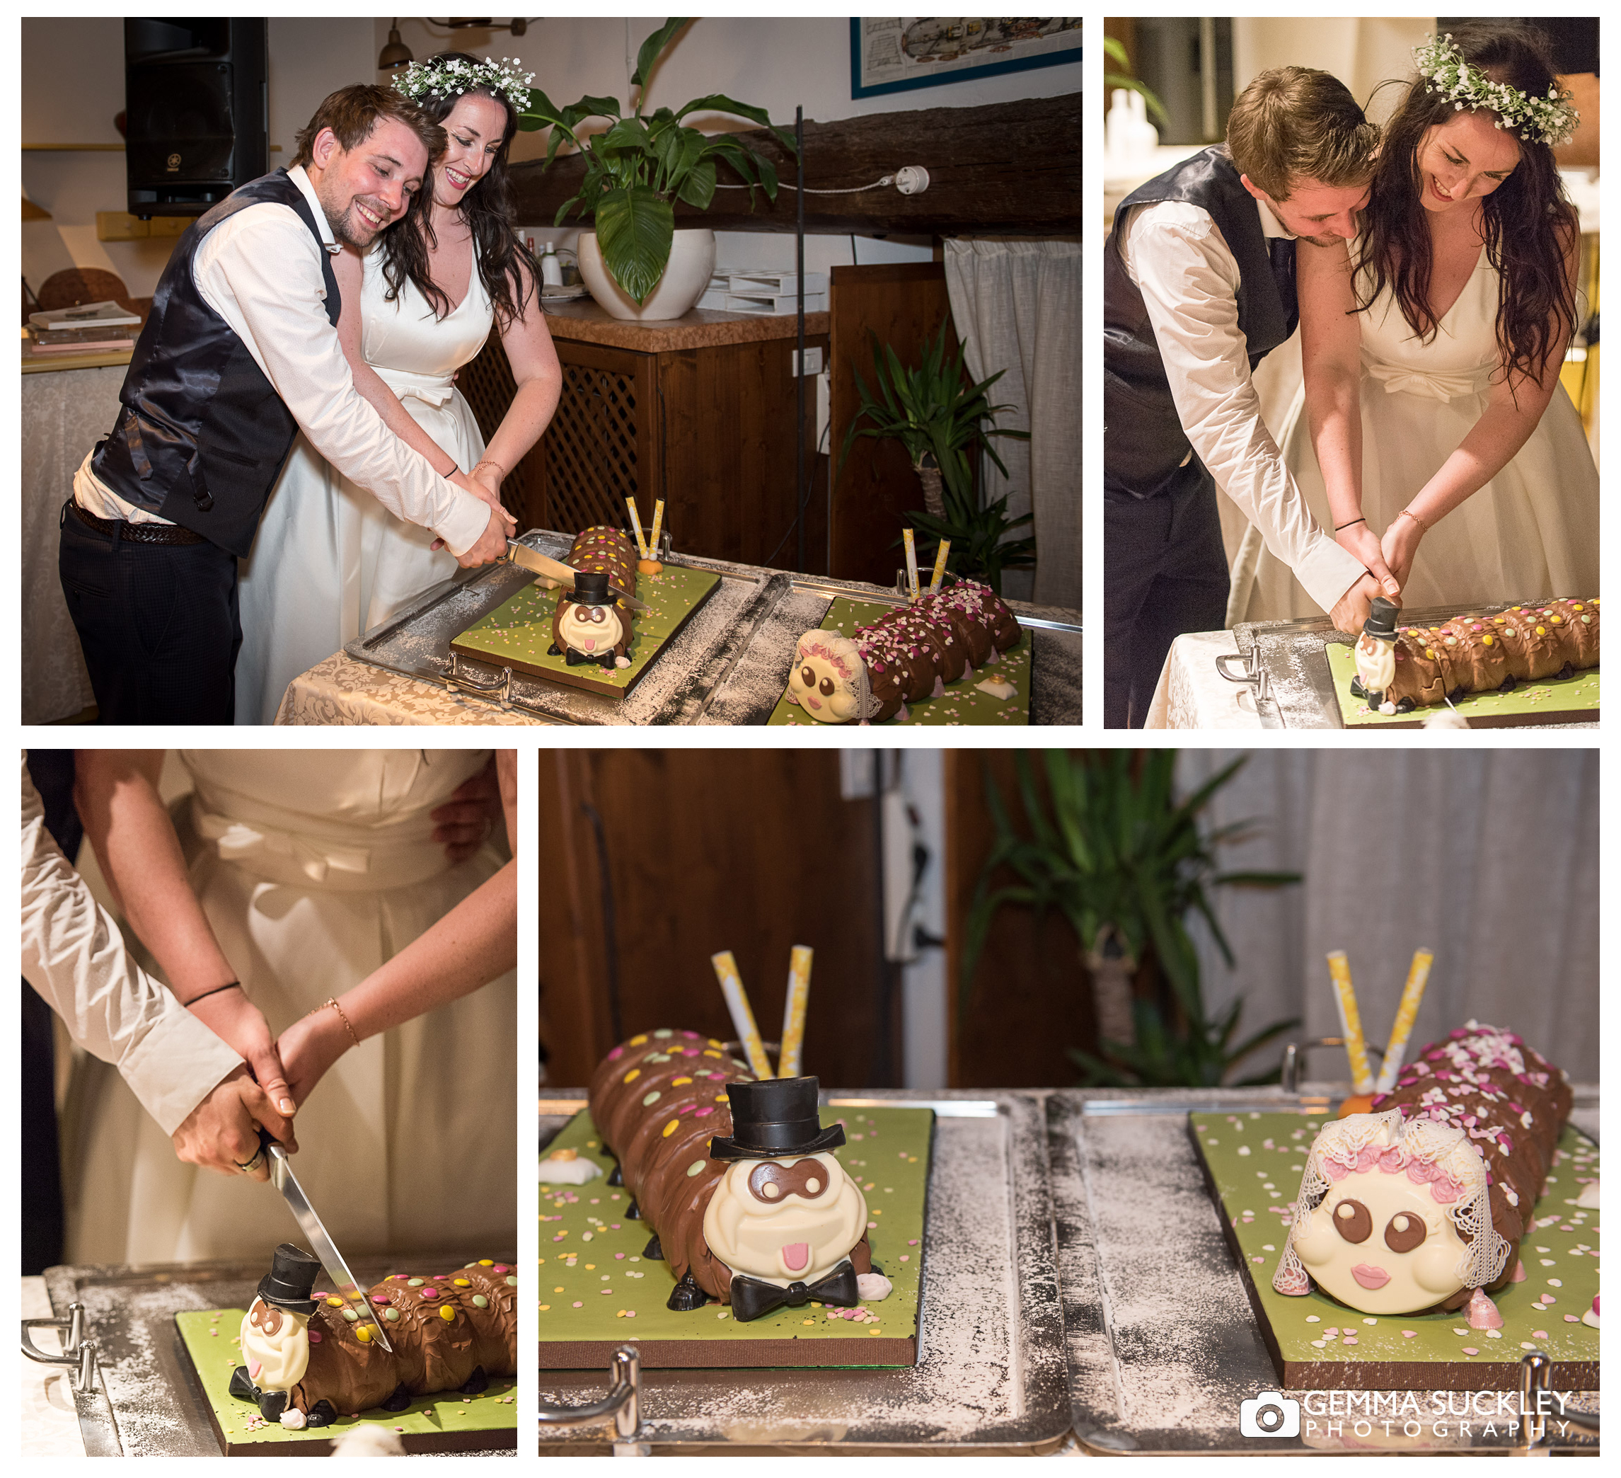
[[[480,58],[468,57],[465,52],[439,52],[430,62],[467,62],[477,67]],[[507,178],[507,149],[512,144],[512,135],[517,133],[517,114],[506,97],[488,88],[467,88],[444,94],[426,92],[417,99],[417,104],[434,123],[443,125],[457,99],[468,92],[499,102],[507,115],[501,148],[490,161],[490,169],[457,206],[473,234],[475,260],[485,279],[485,290],[494,305],[496,323],[499,328],[506,328],[512,320],[524,316],[528,297],[535,292],[535,273],[528,253],[512,227],[517,213],[512,204],[512,185]],[[383,232],[383,277],[389,284],[384,295],[394,302],[408,277],[433,305],[434,315],[444,318],[451,311],[451,299],[428,276],[428,251],[438,245],[433,234],[431,180],[423,182],[423,188],[417,191],[417,200],[412,204],[412,211],[396,230]]]

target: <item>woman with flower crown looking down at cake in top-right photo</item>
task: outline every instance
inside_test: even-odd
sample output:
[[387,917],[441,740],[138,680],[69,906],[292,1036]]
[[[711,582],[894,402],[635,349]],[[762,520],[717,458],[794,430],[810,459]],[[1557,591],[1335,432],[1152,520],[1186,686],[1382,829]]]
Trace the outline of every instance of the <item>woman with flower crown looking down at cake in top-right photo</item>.
[[[1597,595],[1598,470],[1559,385],[1579,230],[1551,146],[1576,114],[1527,26],[1414,55],[1362,234],[1300,245],[1305,386],[1279,440],[1347,548],[1378,535],[1410,608]],[[1238,608],[1316,613],[1264,553]]]

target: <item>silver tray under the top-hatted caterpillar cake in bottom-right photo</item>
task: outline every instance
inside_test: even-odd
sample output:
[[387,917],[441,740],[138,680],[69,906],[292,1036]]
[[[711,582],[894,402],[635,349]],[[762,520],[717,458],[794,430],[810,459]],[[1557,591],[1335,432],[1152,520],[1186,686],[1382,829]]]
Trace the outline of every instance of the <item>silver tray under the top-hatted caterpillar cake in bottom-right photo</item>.
[[[927,1262],[911,1369],[642,1371],[653,1450],[804,1454],[1044,1450],[1070,1426],[1041,1103],[1023,1093],[833,1093],[935,1111]],[[585,1095],[541,1100],[541,1144]],[[541,1371],[580,1405],[603,1373]],[[608,1450],[601,1429],[541,1433],[543,1454]]]

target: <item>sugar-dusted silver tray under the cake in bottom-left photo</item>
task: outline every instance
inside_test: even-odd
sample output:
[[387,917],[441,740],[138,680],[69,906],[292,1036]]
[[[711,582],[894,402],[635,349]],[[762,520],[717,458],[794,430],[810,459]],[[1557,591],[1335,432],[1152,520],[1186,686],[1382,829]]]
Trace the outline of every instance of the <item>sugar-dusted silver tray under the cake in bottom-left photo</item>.
[[[397,1259],[360,1257],[355,1277],[373,1283]],[[81,1264],[45,1269],[57,1317],[79,1301],[96,1340],[99,1390],[76,1392],[89,1457],[219,1457],[207,1399],[175,1330],[182,1309],[246,1308],[263,1262],[149,1265]],[[467,1457],[515,1455],[462,1454]]]

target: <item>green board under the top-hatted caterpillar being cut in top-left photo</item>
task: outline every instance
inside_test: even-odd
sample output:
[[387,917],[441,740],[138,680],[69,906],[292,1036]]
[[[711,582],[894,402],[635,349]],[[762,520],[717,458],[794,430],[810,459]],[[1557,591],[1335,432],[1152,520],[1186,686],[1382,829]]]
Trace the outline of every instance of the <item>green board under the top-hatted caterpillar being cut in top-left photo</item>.
[[540,581],[524,586],[511,600],[473,621],[451,642],[451,649],[571,688],[624,698],[718,586],[718,574],[682,565],[666,565],[663,574],[639,574],[632,594],[648,610],[637,612],[631,623],[629,667],[601,668],[590,662],[569,667],[567,659],[550,657],[546,647],[551,646],[558,592],[545,589]]

